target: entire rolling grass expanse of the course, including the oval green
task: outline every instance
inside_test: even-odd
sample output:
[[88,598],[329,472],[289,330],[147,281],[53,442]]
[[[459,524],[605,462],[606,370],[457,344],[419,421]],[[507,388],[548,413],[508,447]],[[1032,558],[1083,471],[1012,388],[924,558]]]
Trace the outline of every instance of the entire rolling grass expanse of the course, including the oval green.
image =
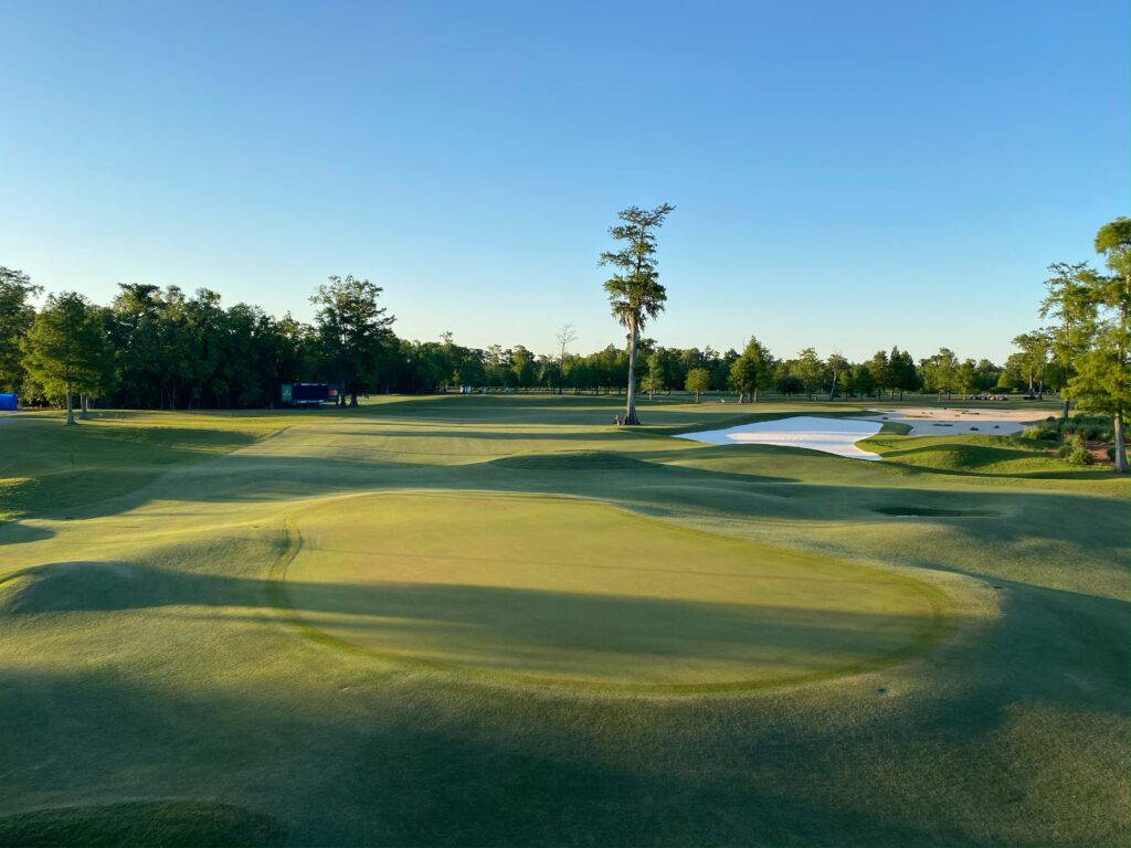
[[1126,483],[844,404],[0,421],[0,845],[1125,845]]

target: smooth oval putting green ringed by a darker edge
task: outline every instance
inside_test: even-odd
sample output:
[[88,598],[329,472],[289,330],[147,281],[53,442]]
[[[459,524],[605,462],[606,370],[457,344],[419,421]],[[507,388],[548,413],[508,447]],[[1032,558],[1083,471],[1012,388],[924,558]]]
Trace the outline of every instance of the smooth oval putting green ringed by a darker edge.
[[592,502],[336,500],[280,597],[322,641],[528,682],[702,691],[874,668],[949,629],[936,590]]

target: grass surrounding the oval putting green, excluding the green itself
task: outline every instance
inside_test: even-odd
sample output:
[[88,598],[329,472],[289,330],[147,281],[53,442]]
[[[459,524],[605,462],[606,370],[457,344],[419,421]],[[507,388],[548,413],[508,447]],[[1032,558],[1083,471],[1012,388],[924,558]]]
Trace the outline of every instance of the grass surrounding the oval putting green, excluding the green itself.
[[[759,414],[821,405],[769,406]],[[38,416],[0,424],[8,485],[63,475],[20,494],[18,518],[0,525],[0,579],[11,578],[0,585],[0,841],[1126,843],[1125,483],[985,436],[881,434],[895,456],[861,462],[616,429],[614,409],[451,397],[67,432]],[[733,413],[642,409],[658,427],[711,429]],[[89,476],[126,482],[72,490],[62,440],[94,445],[111,426],[143,435],[81,456]],[[566,495],[878,569],[944,592],[959,624],[871,672],[657,696],[387,663],[278,612],[269,578],[287,516],[405,490]],[[920,513],[875,511],[893,507]],[[468,513],[458,520],[474,525]],[[414,518],[437,539],[456,520]],[[485,536],[506,537],[501,519],[481,518]],[[417,540],[396,537],[395,522],[383,536],[363,529],[363,517],[344,522],[334,544],[378,557]],[[613,534],[592,562],[634,562],[640,544]],[[357,626],[348,606],[322,613]],[[475,635],[451,628],[447,648]],[[578,638],[596,637],[579,626]],[[181,824],[146,830],[157,816],[145,811],[163,804]],[[221,810],[238,811],[227,830]]]

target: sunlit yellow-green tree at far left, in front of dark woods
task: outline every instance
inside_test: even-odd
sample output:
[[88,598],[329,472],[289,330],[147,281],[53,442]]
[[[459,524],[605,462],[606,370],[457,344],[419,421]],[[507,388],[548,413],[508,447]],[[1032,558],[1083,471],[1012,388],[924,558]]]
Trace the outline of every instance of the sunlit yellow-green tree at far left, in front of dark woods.
[[106,379],[110,345],[101,312],[77,292],[48,297],[21,344],[28,378],[46,395],[62,397],[75,423],[75,391]]

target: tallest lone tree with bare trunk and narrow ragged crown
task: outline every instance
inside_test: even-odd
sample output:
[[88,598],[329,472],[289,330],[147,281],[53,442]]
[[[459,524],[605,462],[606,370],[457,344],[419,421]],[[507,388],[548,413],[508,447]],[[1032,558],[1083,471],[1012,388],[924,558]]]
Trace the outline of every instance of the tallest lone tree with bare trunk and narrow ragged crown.
[[667,293],[659,284],[656,270],[656,233],[664,219],[675,209],[662,204],[645,210],[636,206],[619,213],[621,224],[610,227],[608,233],[624,248],[601,254],[602,266],[612,266],[613,276],[605,282],[605,292],[613,315],[628,329],[629,362],[628,392],[624,406],[624,423],[639,424],[636,414],[636,366],[637,345],[645,323],[664,310]]

